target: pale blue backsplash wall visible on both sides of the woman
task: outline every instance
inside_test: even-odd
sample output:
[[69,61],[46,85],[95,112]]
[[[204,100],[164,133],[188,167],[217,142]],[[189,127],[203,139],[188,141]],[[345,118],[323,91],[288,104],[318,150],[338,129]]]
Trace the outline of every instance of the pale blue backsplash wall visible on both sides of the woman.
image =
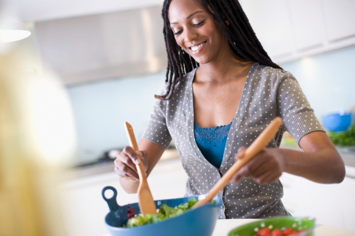
[[[355,104],[355,47],[280,65],[292,72],[316,115]],[[140,139],[159,94],[165,72],[102,80],[68,88],[72,101],[78,150],[76,163],[96,160],[102,151],[128,144],[124,122],[132,124]]]

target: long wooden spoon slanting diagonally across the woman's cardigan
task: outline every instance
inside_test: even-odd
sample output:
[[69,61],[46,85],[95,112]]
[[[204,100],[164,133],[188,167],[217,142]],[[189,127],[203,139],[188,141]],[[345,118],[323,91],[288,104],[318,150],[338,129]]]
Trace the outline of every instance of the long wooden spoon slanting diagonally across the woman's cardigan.
[[228,171],[222,176],[222,178],[213,186],[211,190],[206,194],[206,197],[198,201],[193,208],[202,206],[205,203],[212,201],[217,193],[226,187],[232,176],[247,162],[249,162],[257,153],[259,153],[270,140],[275,136],[282,124],[282,120],[276,117],[271,123],[264,129],[263,132],[254,140],[254,142],[245,150],[244,157],[235,162]]

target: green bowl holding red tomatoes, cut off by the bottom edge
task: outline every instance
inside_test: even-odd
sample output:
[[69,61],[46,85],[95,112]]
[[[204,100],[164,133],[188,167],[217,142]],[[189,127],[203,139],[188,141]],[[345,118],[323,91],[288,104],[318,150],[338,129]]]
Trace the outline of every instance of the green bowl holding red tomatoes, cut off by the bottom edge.
[[300,231],[304,229],[305,231],[297,236],[313,236],[314,219],[291,216],[268,218],[239,226],[231,230],[228,236],[254,236],[258,230],[265,227],[271,230],[292,228]]

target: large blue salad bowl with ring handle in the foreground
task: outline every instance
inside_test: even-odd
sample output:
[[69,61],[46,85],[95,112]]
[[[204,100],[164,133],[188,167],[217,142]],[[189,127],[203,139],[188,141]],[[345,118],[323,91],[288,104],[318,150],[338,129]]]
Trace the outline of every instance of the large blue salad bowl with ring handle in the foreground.
[[[111,198],[106,198],[105,192],[113,191]],[[178,216],[168,218],[157,223],[124,228],[127,224],[127,209],[134,208],[139,211],[138,203],[119,206],[116,201],[117,190],[111,186],[102,189],[102,197],[107,202],[110,212],[105,217],[105,225],[111,236],[211,236],[218,219],[222,199],[217,196],[215,203],[207,203],[196,209],[190,209]],[[176,207],[189,199],[203,199],[205,195],[182,197],[174,199],[155,200],[155,207],[159,209],[162,204]]]

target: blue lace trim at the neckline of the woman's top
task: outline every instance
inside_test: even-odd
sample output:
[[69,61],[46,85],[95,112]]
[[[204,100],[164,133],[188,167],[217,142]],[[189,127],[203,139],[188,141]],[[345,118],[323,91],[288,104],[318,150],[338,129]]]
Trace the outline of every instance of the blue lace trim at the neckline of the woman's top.
[[207,143],[208,145],[216,146],[226,138],[232,122],[228,125],[217,126],[216,128],[201,128],[196,122],[194,122],[195,139]]

